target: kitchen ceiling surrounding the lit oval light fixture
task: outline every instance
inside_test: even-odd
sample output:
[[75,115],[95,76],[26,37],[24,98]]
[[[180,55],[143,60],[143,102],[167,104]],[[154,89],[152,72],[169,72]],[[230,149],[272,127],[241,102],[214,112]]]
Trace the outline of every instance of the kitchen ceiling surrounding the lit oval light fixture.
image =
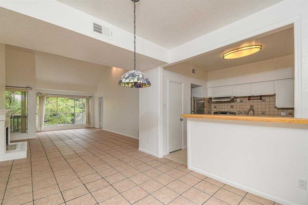
[[[262,49],[249,56],[235,59],[224,59],[222,55],[230,50],[249,45],[261,45]],[[217,50],[194,57],[185,61],[186,65],[206,71],[244,65],[247,63],[263,61],[294,54],[294,28],[293,25],[281,27],[243,41],[224,46]]]

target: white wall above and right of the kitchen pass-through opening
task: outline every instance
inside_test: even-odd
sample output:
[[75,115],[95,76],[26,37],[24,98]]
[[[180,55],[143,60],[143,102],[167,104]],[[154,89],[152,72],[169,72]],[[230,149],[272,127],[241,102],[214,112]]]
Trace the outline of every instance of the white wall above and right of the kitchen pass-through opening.
[[[170,50],[169,63],[183,61],[184,59],[206,53],[231,43],[264,33],[274,27],[284,26],[291,18],[300,18],[300,22],[294,26],[294,39],[300,40],[301,46],[301,116],[308,118],[308,1],[282,1],[237,22],[205,34],[192,41],[184,43]],[[297,31],[300,32],[297,36]]]

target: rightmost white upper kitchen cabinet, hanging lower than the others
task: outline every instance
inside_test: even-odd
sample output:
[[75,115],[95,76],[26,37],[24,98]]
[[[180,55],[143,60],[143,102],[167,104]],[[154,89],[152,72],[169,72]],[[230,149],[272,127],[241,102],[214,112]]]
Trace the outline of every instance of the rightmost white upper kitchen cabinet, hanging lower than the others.
[[276,107],[294,107],[294,79],[276,82]]

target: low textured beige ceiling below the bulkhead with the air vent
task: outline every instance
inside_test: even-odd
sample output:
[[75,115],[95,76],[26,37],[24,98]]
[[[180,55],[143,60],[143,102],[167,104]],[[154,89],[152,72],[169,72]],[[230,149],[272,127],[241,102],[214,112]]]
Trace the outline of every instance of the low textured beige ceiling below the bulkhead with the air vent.
[[[133,52],[0,7],[0,42],[101,65],[132,70]],[[143,71],[166,62],[136,54]]]

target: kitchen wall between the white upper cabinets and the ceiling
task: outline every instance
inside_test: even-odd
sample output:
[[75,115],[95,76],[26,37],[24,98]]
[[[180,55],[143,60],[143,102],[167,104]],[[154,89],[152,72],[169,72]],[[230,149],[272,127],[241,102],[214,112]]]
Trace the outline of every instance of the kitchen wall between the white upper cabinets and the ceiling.
[[207,85],[218,87],[286,78],[294,78],[294,55],[209,71]]

